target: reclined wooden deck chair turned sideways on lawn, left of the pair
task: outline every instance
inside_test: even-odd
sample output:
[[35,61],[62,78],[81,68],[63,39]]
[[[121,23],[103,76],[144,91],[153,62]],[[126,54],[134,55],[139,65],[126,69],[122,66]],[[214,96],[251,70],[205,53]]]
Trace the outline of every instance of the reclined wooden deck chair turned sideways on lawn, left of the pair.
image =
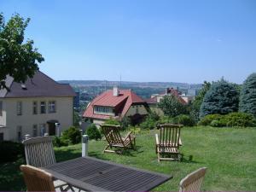
[[135,148],[135,137],[131,134],[131,131],[125,137],[120,135],[119,125],[101,125],[102,132],[108,142],[105,152],[114,153],[114,150],[108,148]]

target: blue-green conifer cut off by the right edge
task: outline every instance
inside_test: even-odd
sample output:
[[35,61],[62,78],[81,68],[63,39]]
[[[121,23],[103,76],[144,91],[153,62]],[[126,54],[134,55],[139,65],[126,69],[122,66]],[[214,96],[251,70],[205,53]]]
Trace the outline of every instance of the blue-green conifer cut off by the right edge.
[[239,111],[252,113],[256,117],[256,73],[252,73],[242,84]]

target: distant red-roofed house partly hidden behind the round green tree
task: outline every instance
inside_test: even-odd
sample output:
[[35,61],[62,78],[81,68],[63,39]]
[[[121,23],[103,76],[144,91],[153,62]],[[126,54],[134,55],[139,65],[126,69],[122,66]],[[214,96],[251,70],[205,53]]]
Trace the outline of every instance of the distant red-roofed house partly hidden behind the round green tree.
[[163,111],[157,107],[157,103],[159,103],[164,96],[176,96],[177,100],[183,105],[188,103],[183,99],[182,93],[174,88],[166,88],[165,91],[159,94],[153,94],[149,99],[146,99],[145,102],[147,102],[151,111],[154,111],[159,115],[164,115]]

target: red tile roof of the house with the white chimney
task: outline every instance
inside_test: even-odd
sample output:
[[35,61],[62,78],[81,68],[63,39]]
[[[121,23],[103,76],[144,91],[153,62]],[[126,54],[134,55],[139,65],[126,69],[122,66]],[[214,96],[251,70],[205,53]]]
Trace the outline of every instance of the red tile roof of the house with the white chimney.
[[[105,106],[105,107],[118,107],[119,104],[124,103],[124,107],[120,109],[121,117],[125,116],[125,113],[129,110],[134,103],[145,103],[143,99],[133,93],[131,90],[119,90],[119,96],[113,96],[113,90],[107,90],[100,96],[97,96],[88,107],[85,109],[83,117],[93,119],[109,119],[109,115],[95,114],[93,113],[94,106]],[[114,118],[114,117],[113,117]]]

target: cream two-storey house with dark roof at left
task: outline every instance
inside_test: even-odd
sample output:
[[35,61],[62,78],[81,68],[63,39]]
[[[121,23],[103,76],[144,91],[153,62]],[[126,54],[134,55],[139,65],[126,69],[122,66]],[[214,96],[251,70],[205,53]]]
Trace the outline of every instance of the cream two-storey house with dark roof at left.
[[12,77],[5,82],[9,91],[0,90],[0,140],[56,135],[73,125],[75,93],[69,84],[59,84],[40,71],[25,84]]

